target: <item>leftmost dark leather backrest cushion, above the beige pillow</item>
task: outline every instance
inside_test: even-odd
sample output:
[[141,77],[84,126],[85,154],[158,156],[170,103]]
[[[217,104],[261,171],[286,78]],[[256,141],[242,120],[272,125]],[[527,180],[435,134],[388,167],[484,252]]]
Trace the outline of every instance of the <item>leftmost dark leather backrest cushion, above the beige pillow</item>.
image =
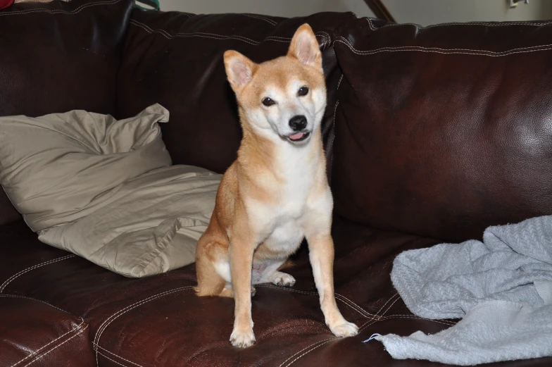
[[[134,1],[15,4],[0,11],[0,116],[115,112]],[[0,225],[18,218],[0,193]]]

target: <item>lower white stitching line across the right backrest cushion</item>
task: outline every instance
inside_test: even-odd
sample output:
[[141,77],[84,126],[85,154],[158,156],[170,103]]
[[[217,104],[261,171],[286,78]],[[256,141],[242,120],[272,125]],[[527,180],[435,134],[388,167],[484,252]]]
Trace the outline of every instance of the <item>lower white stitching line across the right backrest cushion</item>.
[[[472,49],[439,49],[437,47],[422,47],[422,46],[399,46],[399,47],[381,47],[380,49],[373,49],[370,51],[359,51],[355,49],[346,39],[339,37],[334,41],[341,42],[345,44],[353,53],[358,55],[372,55],[379,54],[380,52],[399,52],[399,51],[420,51],[420,52],[429,52],[434,54],[467,54],[475,56],[508,56],[513,54],[523,54],[528,52],[535,51],[546,51],[552,49],[552,44],[544,44],[541,46],[529,46],[529,47],[520,47],[518,49],[511,49],[508,51],[482,51],[482,50],[472,50]],[[470,51],[470,52],[466,52]]]

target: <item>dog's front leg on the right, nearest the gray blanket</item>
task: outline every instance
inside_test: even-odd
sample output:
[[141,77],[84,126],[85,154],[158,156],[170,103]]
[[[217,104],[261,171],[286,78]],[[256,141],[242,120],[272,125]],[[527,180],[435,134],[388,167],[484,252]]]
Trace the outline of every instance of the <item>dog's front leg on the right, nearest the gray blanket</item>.
[[320,295],[320,308],[326,325],[337,337],[358,334],[358,327],[346,321],[337,309],[334,295],[334,241],[332,235],[313,233],[307,235],[309,258],[313,266],[314,281]]

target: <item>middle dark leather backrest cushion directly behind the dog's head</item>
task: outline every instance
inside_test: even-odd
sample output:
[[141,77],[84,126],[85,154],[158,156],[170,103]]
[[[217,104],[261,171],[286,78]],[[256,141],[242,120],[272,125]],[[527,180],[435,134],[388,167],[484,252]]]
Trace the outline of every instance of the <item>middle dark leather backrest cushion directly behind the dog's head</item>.
[[118,79],[118,117],[154,103],[165,106],[170,122],[161,128],[173,163],[222,173],[236,158],[242,136],[222,54],[234,49],[256,62],[283,56],[296,29],[309,23],[323,50],[329,99],[322,126],[328,139],[341,75],[332,41],[337,28],[353,19],[352,13],[284,19],[135,10]]

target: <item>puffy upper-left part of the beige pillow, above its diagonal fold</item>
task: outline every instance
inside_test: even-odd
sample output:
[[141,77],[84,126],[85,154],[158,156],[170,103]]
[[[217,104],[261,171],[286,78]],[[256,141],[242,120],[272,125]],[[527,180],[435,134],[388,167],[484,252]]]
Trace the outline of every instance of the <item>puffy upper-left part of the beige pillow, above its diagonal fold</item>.
[[97,209],[123,182],[168,167],[154,105],[134,118],[70,111],[0,118],[0,183],[35,232]]

